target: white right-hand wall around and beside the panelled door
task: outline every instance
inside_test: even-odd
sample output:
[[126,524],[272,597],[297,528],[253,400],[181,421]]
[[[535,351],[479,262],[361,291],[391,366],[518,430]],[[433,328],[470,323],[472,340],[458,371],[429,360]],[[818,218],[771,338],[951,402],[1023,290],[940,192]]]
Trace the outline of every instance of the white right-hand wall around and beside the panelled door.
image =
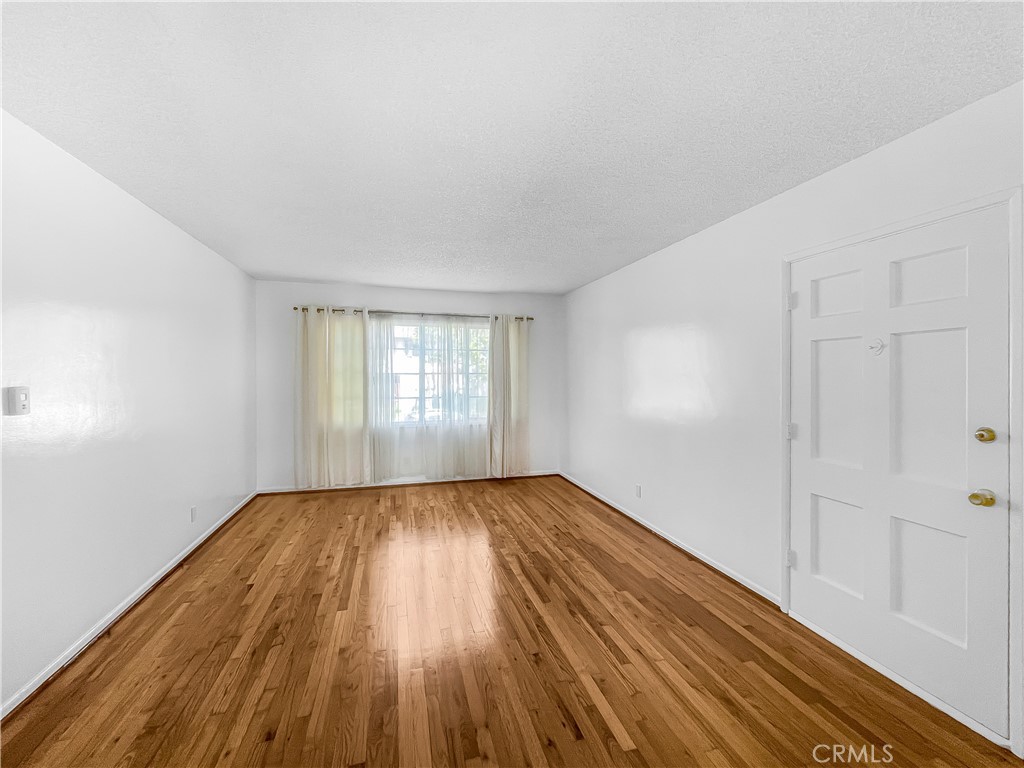
[[988,96],[568,294],[566,473],[775,597],[780,262],[1020,185],[1022,95]]

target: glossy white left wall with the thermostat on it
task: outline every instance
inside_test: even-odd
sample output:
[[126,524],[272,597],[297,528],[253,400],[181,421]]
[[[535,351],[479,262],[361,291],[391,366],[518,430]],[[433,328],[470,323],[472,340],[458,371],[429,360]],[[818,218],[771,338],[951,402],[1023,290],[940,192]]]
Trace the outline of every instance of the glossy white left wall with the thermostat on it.
[[[4,711],[255,487],[253,281],[3,114]],[[189,522],[189,506],[198,520]]]

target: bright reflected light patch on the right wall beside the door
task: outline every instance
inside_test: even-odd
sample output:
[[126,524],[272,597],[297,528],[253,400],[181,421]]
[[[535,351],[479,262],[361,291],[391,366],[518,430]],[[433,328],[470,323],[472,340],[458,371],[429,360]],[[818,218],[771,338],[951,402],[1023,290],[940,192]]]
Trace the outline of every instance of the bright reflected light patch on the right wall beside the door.
[[709,343],[697,326],[638,328],[626,336],[626,412],[634,419],[686,424],[717,410],[708,385]]

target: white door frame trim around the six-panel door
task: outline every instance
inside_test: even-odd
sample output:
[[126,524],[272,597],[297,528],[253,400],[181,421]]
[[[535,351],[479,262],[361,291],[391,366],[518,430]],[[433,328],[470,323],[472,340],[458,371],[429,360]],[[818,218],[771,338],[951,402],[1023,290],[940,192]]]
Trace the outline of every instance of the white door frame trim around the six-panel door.
[[[1024,757],[1024,256],[1022,256],[1021,234],[1021,187],[986,195],[983,198],[962,203],[949,208],[914,216],[910,219],[887,224],[842,240],[833,241],[813,248],[803,249],[783,257],[781,264],[781,379],[780,379],[780,412],[781,425],[779,442],[781,446],[781,590],[779,606],[782,611],[790,610],[790,534],[792,529],[791,510],[791,477],[792,477],[792,442],[790,439],[791,411],[791,366],[792,366],[792,305],[791,305],[791,266],[797,261],[822,256],[841,248],[864,243],[871,240],[887,238],[892,234],[915,229],[943,219],[961,216],[984,208],[1006,206],[1010,226],[1010,738],[1004,738],[997,733],[976,723],[950,707],[929,695],[908,680],[866,658],[842,641],[829,636],[826,632],[812,625],[813,631],[822,635],[829,642],[874,668],[886,677],[907,688],[926,701],[942,710],[950,717],[968,727],[978,731],[986,738],[1009,746],[1018,757]],[[799,616],[794,616],[798,621]],[[802,622],[807,624],[806,622]]]

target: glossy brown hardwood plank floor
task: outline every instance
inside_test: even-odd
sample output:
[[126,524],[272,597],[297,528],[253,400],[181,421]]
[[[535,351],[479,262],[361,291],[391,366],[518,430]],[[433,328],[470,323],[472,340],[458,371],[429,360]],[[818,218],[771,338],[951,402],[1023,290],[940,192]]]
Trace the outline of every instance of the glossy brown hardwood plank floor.
[[257,498],[2,738],[4,768],[1019,765],[560,477]]

